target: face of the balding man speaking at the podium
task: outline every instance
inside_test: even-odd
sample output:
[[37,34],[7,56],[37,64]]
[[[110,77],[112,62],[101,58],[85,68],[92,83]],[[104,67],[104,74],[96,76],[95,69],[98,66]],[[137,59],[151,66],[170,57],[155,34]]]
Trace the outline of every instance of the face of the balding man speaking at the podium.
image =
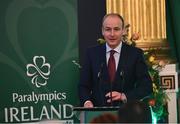
[[117,16],[109,16],[103,22],[102,34],[111,48],[116,48],[123,35],[122,21]]

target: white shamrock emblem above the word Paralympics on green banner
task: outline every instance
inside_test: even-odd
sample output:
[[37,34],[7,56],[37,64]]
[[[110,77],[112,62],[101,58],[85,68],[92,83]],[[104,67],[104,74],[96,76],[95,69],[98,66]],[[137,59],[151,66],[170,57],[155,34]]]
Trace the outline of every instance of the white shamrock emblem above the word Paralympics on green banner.
[[45,62],[44,56],[34,56],[33,64],[27,64],[27,76],[32,77],[31,83],[37,88],[45,86],[50,75],[50,64]]

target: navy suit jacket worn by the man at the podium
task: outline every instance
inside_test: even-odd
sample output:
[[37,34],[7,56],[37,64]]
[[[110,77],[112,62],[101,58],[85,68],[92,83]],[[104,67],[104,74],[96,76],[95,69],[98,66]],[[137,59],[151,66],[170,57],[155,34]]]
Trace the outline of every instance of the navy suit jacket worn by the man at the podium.
[[118,106],[120,101],[107,103],[105,94],[110,91],[123,92],[127,100],[139,100],[148,96],[152,92],[152,81],[143,51],[122,43],[116,76],[110,83],[106,45],[88,48],[81,69],[78,90],[81,106],[87,100],[91,100],[94,106]]

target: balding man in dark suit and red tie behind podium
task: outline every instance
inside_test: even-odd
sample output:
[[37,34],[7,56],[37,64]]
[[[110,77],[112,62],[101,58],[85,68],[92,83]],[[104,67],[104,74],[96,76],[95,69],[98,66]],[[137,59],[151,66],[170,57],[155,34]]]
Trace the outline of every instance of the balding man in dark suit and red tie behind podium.
[[152,92],[152,81],[143,51],[122,42],[124,20],[105,15],[102,34],[106,44],[87,50],[79,87],[81,106],[118,106]]

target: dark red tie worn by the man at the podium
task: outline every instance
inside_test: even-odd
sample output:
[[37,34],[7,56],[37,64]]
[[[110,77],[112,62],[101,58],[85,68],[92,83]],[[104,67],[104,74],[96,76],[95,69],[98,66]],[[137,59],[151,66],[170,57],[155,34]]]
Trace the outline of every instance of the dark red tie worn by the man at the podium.
[[115,59],[114,59],[115,52],[116,51],[114,51],[114,50],[110,51],[110,57],[109,57],[109,61],[108,61],[108,72],[109,72],[109,77],[110,77],[111,82],[113,82],[115,73],[116,73],[116,63],[115,63]]

